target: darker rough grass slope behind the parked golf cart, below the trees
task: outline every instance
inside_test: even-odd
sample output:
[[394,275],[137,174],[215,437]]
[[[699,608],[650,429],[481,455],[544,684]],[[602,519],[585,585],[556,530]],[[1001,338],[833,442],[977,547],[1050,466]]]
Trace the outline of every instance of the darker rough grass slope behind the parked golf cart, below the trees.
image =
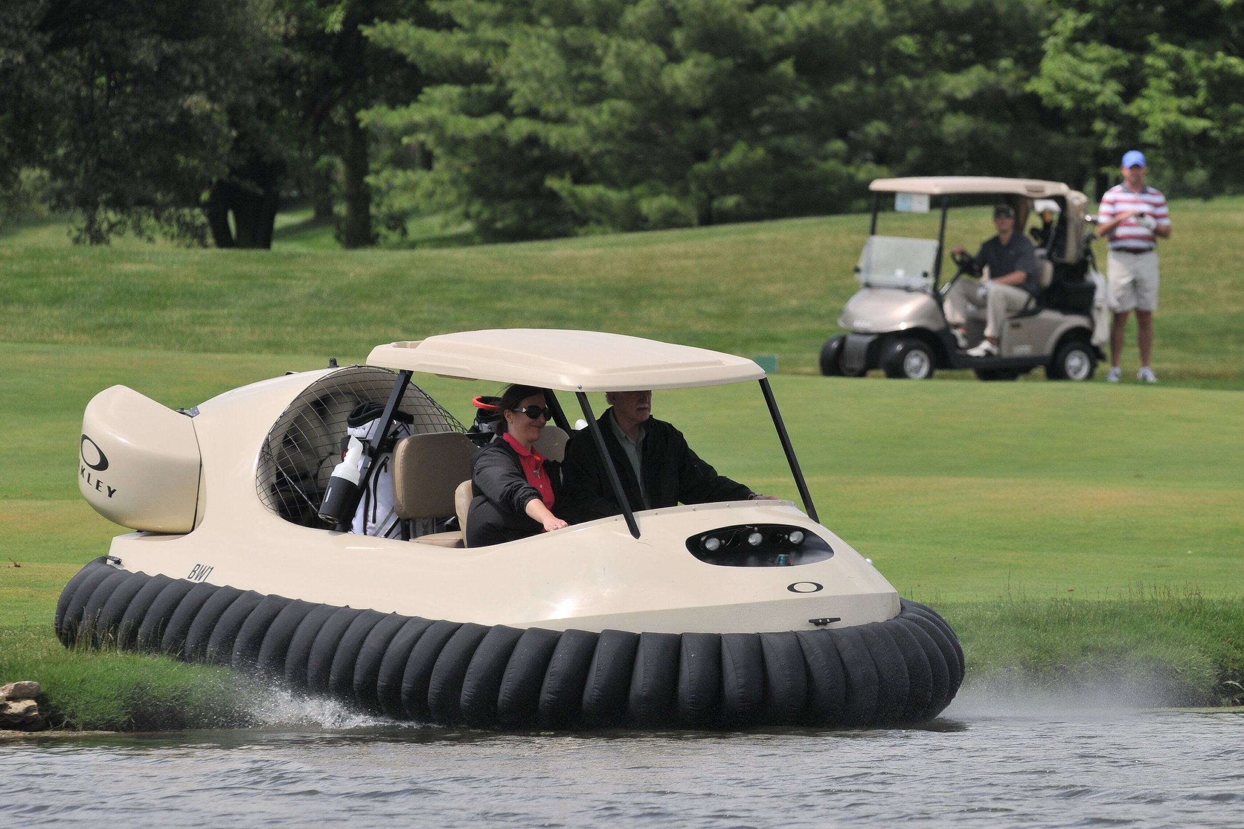
[[[1178,200],[1172,214],[1154,368],[1167,382],[1244,388],[1244,198]],[[583,327],[776,354],[784,371],[814,372],[867,233],[867,217],[838,215],[345,251],[306,218],[284,215],[271,251],[75,248],[55,222],[0,233],[0,340],[341,355],[463,329]],[[929,234],[933,220],[891,214],[880,230]],[[948,240],[974,246],[989,228],[986,208],[955,210]]]

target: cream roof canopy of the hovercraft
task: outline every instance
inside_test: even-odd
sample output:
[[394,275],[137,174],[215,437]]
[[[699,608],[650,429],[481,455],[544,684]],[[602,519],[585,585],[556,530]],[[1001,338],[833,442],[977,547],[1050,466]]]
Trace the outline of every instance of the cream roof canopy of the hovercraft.
[[464,380],[559,391],[690,388],[760,380],[750,360],[601,331],[494,329],[438,334],[372,349],[367,362]]

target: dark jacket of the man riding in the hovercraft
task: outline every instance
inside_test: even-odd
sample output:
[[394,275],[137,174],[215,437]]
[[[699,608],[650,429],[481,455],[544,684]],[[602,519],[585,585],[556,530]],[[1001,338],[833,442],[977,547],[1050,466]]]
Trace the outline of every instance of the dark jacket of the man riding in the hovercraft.
[[[613,410],[608,408],[601,416],[601,434],[605,446],[613,458],[613,468],[622,480],[631,509],[643,509],[643,497],[639,494],[639,482],[634,468],[613,434],[610,421]],[[717,500],[746,500],[751,490],[736,480],[717,474],[717,469],[697,457],[687,446],[683,433],[671,423],[649,417],[641,426],[644,429],[642,452],[643,485],[648,492],[648,503],[653,509],[683,504],[707,504]],[[575,502],[582,520],[617,515],[622,512],[610,485],[608,473],[596,451],[596,441],[587,429],[580,429],[566,447],[562,462],[562,488]]]

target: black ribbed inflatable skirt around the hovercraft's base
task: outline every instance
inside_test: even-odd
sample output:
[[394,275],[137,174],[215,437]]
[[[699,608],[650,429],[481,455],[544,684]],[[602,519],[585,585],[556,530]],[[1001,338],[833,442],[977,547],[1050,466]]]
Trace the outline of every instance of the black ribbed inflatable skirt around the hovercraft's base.
[[600,634],[419,619],[129,573],[101,556],[56,607],[66,647],[231,666],[373,713],[471,728],[888,726],[935,717],[963,650],[932,609],[857,627]]

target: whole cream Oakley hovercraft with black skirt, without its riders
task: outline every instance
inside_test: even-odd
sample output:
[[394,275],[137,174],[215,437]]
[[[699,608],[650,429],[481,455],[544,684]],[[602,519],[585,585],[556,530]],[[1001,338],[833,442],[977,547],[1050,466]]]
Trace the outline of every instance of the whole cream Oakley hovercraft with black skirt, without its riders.
[[[878,724],[935,716],[963,678],[945,621],[901,600],[816,520],[764,371],[586,331],[496,330],[376,347],[368,366],[253,383],[189,411],[124,386],[83,417],[83,497],[134,533],[65,588],[66,645],[231,665],[399,718],[473,727]],[[396,370],[396,371],[393,371]],[[652,509],[465,548],[341,532],[317,513],[346,417],[383,403],[412,525],[464,523],[474,444],[414,372],[573,393],[759,381],[805,512],[750,500]],[[560,459],[570,429],[540,448]],[[378,442],[377,442],[378,447]],[[377,448],[373,447],[373,448]],[[377,457],[379,457],[377,454]],[[466,482],[466,483],[464,483]]]

